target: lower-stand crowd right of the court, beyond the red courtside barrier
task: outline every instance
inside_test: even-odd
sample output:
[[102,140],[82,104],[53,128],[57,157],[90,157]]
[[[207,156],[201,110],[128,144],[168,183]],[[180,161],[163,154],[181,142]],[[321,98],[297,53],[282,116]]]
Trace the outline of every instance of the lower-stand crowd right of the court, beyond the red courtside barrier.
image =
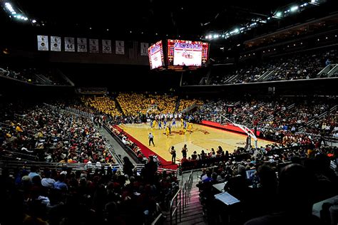
[[[227,107],[234,106],[232,113]],[[227,123],[225,117],[250,129],[260,131],[261,137],[282,141],[287,133],[305,131],[312,135],[335,137],[338,126],[336,111],[329,113],[334,106],[330,101],[321,99],[297,101],[288,98],[266,100],[215,100],[200,107],[194,113],[196,121],[208,120]],[[307,124],[310,120],[314,122]],[[320,126],[320,127],[319,127]],[[302,135],[299,135],[302,136]]]

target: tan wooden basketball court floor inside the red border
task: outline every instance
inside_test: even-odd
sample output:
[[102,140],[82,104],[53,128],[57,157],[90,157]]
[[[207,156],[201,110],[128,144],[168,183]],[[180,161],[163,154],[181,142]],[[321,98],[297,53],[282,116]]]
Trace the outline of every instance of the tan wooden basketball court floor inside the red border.
[[[182,158],[181,150],[185,144],[188,147],[189,157],[194,151],[198,152],[198,154],[202,150],[208,153],[212,147],[216,151],[218,146],[221,146],[224,151],[228,150],[231,153],[237,147],[245,147],[246,140],[246,135],[197,124],[193,125],[191,134],[189,132],[183,134],[180,122],[178,122],[178,127],[171,128],[171,135],[169,137],[165,135],[164,129],[150,128],[149,123],[126,124],[119,125],[119,127],[167,161],[171,161],[169,152],[171,146],[175,147],[177,152],[176,160],[180,161]],[[152,132],[154,135],[155,147],[153,145],[149,146],[149,132]],[[260,147],[272,143],[259,139],[257,145]],[[252,145],[254,145],[254,140],[252,140]]]

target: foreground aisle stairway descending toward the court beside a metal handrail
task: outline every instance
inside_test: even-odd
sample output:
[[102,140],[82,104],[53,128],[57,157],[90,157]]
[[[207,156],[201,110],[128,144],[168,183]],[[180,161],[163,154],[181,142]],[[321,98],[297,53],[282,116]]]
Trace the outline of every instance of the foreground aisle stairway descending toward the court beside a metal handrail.
[[[181,219],[178,216],[178,224],[207,224],[205,216],[203,216],[203,206],[200,204],[200,192],[198,187],[196,187],[195,182],[193,183],[193,188],[190,193],[190,199],[188,200],[188,204],[185,206],[184,212],[182,212]],[[166,221],[163,224],[170,224],[170,214],[166,215]],[[175,224],[175,218],[173,218],[173,224]]]

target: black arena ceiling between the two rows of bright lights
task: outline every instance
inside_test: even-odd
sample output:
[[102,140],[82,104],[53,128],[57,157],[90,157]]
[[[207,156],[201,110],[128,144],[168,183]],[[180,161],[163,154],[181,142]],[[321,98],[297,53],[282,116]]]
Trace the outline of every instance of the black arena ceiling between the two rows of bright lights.
[[[46,1],[16,0],[30,18],[46,27],[103,31],[133,37],[194,37],[217,29],[248,23],[257,16],[271,16],[295,0],[139,0],[139,1]],[[37,23],[38,24],[38,23]],[[91,28],[91,29],[90,29]],[[90,29],[90,31],[88,31]],[[130,32],[131,31],[131,32]],[[156,34],[157,33],[157,34]]]

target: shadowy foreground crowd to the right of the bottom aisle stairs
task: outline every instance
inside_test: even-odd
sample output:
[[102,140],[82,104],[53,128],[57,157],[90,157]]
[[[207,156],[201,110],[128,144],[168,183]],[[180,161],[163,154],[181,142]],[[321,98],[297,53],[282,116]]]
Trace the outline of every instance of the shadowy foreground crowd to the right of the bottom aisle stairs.
[[[320,224],[319,219],[309,215],[314,202],[337,195],[338,179],[330,163],[330,159],[337,158],[337,150],[337,147],[270,145],[255,152],[226,153],[215,158],[218,160],[204,159],[200,163],[203,172],[198,187],[208,223]],[[285,169],[291,167],[304,173],[285,174]],[[252,172],[250,177],[247,172]],[[285,176],[295,177],[285,184]],[[222,191],[213,184],[222,184],[222,191],[239,199],[240,204],[230,206],[230,211],[215,200],[214,195]],[[254,219],[265,215],[269,216]],[[274,222],[268,223],[270,219]]]

